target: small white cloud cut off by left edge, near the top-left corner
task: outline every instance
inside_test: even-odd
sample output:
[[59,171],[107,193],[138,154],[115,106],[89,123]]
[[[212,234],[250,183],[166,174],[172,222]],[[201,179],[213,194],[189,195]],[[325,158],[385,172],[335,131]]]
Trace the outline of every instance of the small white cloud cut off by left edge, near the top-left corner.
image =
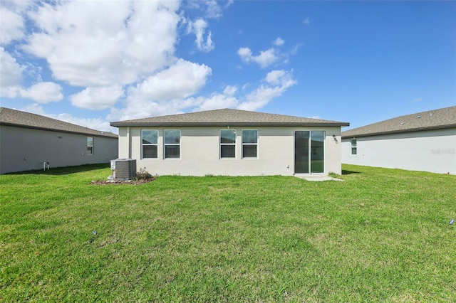
[[[6,2],[2,1],[2,4]],[[20,14],[0,5],[0,44],[8,44],[24,37],[24,19]]]

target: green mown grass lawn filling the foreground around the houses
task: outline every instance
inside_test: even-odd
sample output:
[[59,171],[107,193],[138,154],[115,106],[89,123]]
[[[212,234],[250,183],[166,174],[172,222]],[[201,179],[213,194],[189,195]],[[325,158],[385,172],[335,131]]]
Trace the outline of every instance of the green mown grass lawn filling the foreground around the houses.
[[451,302],[456,176],[0,176],[0,302]]

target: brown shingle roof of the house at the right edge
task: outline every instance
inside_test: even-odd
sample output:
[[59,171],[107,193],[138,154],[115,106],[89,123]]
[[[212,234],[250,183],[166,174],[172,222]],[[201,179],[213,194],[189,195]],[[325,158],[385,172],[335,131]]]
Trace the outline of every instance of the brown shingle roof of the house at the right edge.
[[388,119],[342,132],[342,138],[456,127],[456,106]]

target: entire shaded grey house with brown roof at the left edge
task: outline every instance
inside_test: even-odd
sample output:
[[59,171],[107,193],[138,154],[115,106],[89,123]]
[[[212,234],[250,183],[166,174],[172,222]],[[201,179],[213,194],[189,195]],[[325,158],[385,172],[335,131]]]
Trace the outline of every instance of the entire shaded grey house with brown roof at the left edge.
[[118,135],[0,107],[0,174],[108,163]]

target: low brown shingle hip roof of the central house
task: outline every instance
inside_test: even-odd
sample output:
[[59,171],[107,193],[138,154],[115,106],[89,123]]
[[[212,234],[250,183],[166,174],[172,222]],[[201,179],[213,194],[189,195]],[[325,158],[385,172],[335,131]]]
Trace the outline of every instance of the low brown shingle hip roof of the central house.
[[247,110],[207,110],[187,114],[111,122],[113,127],[124,126],[348,126],[347,122],[328,121],[286,115],[266,114]]

